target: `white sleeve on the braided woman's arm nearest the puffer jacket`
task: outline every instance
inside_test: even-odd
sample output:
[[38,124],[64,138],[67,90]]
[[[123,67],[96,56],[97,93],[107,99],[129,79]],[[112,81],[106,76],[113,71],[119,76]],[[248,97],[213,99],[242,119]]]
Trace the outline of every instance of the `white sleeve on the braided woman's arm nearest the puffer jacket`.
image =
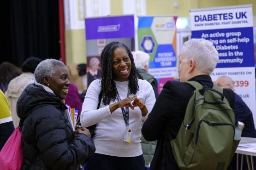
[[97,109],[100,91],[101,81],[98,79],[94,80],[87,89],[80,116],[81,125],[84,127],[95,125],[111,115],[108,105],[104,108]]

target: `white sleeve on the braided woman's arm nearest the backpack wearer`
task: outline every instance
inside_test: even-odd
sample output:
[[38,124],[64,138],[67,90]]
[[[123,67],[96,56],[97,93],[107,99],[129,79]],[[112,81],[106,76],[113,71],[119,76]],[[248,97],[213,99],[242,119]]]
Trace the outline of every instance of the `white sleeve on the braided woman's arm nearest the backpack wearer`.
[[145,106],[147,107],[148,109],[148,113],[146,116],[143,117],[143,120],[145,121],[148,116],[149,116],[149,113],[152,111],[154,105],[155,105],[155,93],[154,93],[154,90],[152,88],[152,85],[150,85],[150,83],[146,80],[143,80],[145,81],[145,92],[146,92],[146,96],[145,96]]

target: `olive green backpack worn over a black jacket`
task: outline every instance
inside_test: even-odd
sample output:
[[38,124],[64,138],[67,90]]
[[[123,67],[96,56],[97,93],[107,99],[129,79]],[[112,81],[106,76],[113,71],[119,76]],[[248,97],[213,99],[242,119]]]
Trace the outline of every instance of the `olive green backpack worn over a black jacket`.
[[226,170],[239,143],[234,140],[234,111],[220,87],[185,83],[196,90],[171,141],[176,163],[180,170]]

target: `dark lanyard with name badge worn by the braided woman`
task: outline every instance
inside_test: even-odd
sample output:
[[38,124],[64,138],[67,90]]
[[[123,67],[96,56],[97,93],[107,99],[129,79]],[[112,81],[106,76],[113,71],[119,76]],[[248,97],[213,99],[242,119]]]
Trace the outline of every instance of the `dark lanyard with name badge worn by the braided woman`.
[[[115,89],[115,91],[116,91],[117,100],[120,101],[121,98],[118,94],[117,89]],[[129,97],[129,90],[128,90],[128,93],[127,93],[127,98],[128,97]],[[132,135],[133,130],[131,128],[129,128],[129,107],[126,107],[126,108],[122,107],[121,110],[122,110],[123,117],[124,117],[124,120],[125,120],[125,125],[126,125],[124,142],[131,143],[131,135]]]

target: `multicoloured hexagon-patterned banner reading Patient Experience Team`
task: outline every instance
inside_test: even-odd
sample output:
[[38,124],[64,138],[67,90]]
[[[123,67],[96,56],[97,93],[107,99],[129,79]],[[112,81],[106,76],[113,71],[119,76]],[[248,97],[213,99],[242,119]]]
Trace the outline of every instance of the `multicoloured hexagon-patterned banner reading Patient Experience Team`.
[[178,79],[176,57],[177,16],[138,17],[138,49],[150,56],[149,74],[160,92],[167,80]]

